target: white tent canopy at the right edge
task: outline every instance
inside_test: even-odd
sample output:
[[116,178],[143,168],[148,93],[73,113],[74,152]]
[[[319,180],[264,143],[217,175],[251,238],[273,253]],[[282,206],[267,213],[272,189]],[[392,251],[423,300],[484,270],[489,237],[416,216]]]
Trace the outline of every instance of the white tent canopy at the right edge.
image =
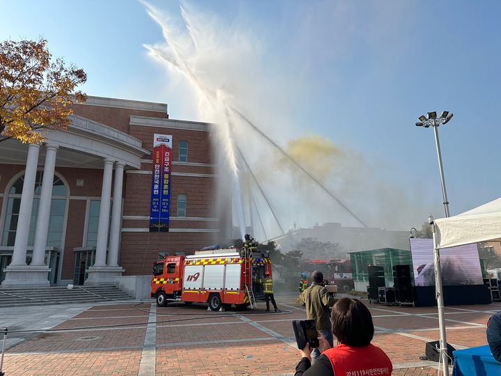
[[501,237],[501,198],[454,217],[435,219],[439,249]]

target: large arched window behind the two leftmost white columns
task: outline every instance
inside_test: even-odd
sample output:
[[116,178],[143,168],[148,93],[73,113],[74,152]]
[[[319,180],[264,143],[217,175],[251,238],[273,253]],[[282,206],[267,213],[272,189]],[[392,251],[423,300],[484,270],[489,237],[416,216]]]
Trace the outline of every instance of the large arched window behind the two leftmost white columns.
[[[35,233],[36,217],[38,214],[38,203],[40,202],[40,191],[42,190],[43,171],[37,171],[35,178],[35,191],[33,196],[33,208],[31,210],[31,221],[29,228],[28,246],[33,246],[33,235]],[[21,205],[21,194],[24,184],[24,175],[20,176],[10,187],[6,200],[5,223],[1,237],[2,246],[13,246],[17,229],[17,219],[19,218],[19,206]],[[52,202],[49,218],[49,234],[47,246],[61,246],[63,238],[64,216],[67,201],[67,188],[56,174],[52,183]]]

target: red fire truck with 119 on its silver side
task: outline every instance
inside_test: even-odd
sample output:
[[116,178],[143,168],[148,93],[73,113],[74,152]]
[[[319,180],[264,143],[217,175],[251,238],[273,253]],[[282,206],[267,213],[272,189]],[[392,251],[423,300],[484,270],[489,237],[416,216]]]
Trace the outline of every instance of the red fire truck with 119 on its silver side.
[[262,295],[264,273],[271,275],[269,254],[253,249],[216,248],[166,256],[154,263],[151,297],[161,307],[184,301],[208,303],[212,311],[232,304],[252,308]]

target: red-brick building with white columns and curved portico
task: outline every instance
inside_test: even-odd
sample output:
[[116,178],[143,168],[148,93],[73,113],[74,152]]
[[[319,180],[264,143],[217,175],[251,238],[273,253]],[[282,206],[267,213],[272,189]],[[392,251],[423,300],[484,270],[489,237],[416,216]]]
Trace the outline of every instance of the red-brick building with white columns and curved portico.
[[[0,143],[1,286],[106,283],[227,240],[212,127],[169,119],[167,104],[88,97],[42,145]],[[149,232],[154,134],[172,136],[164,233]]]

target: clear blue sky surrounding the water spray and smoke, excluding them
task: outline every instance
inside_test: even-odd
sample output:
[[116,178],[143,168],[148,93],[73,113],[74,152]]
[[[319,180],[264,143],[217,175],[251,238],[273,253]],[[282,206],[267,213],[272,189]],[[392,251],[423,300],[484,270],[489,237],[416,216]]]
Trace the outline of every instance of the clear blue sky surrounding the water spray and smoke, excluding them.
[[[171,17],[166,24],[182,28],[179,1],[149,3]],[[268,123],[273,139],[285,146],[304,134],[324,136],[367,163],[365,171],[374,174],[367,179],[378,180],[374,189],[395,187],[401,200],[411,201],[404,219],[382,216],[370,224],[407,229],[419,227],[429,212],[443,217],[433,131],[414,125],[426,111],[454,113],[439,130],[451,214],[501,196],[499,1],[182,4],[200,29],[214,31],[214,50],[218,43],[228,47],[228,34],[244,40],[234,49],[246,49],[235,53],[246,57],[246,79],[221,87],[241,98],[247,111],[261,114],[256,116]],[[171,118],[212,121],[182,75],[148,56],[144,45],[163,43],[164,36],[144,3],[0,0],[0,6],[0,40],[44,36],[55,56],[86,70],[89,95],[166,102]],[[207,72],[217,76],[220,63]],[[273,126],[278,119],[289,127]],[[363,186],[372,197],[370,181]],[[371,205],[357,206],[349,193],[347,201],[360,217]],[[399,207],[395,202],[391,208]],[[304,226],[308,221],[299,220]]]

